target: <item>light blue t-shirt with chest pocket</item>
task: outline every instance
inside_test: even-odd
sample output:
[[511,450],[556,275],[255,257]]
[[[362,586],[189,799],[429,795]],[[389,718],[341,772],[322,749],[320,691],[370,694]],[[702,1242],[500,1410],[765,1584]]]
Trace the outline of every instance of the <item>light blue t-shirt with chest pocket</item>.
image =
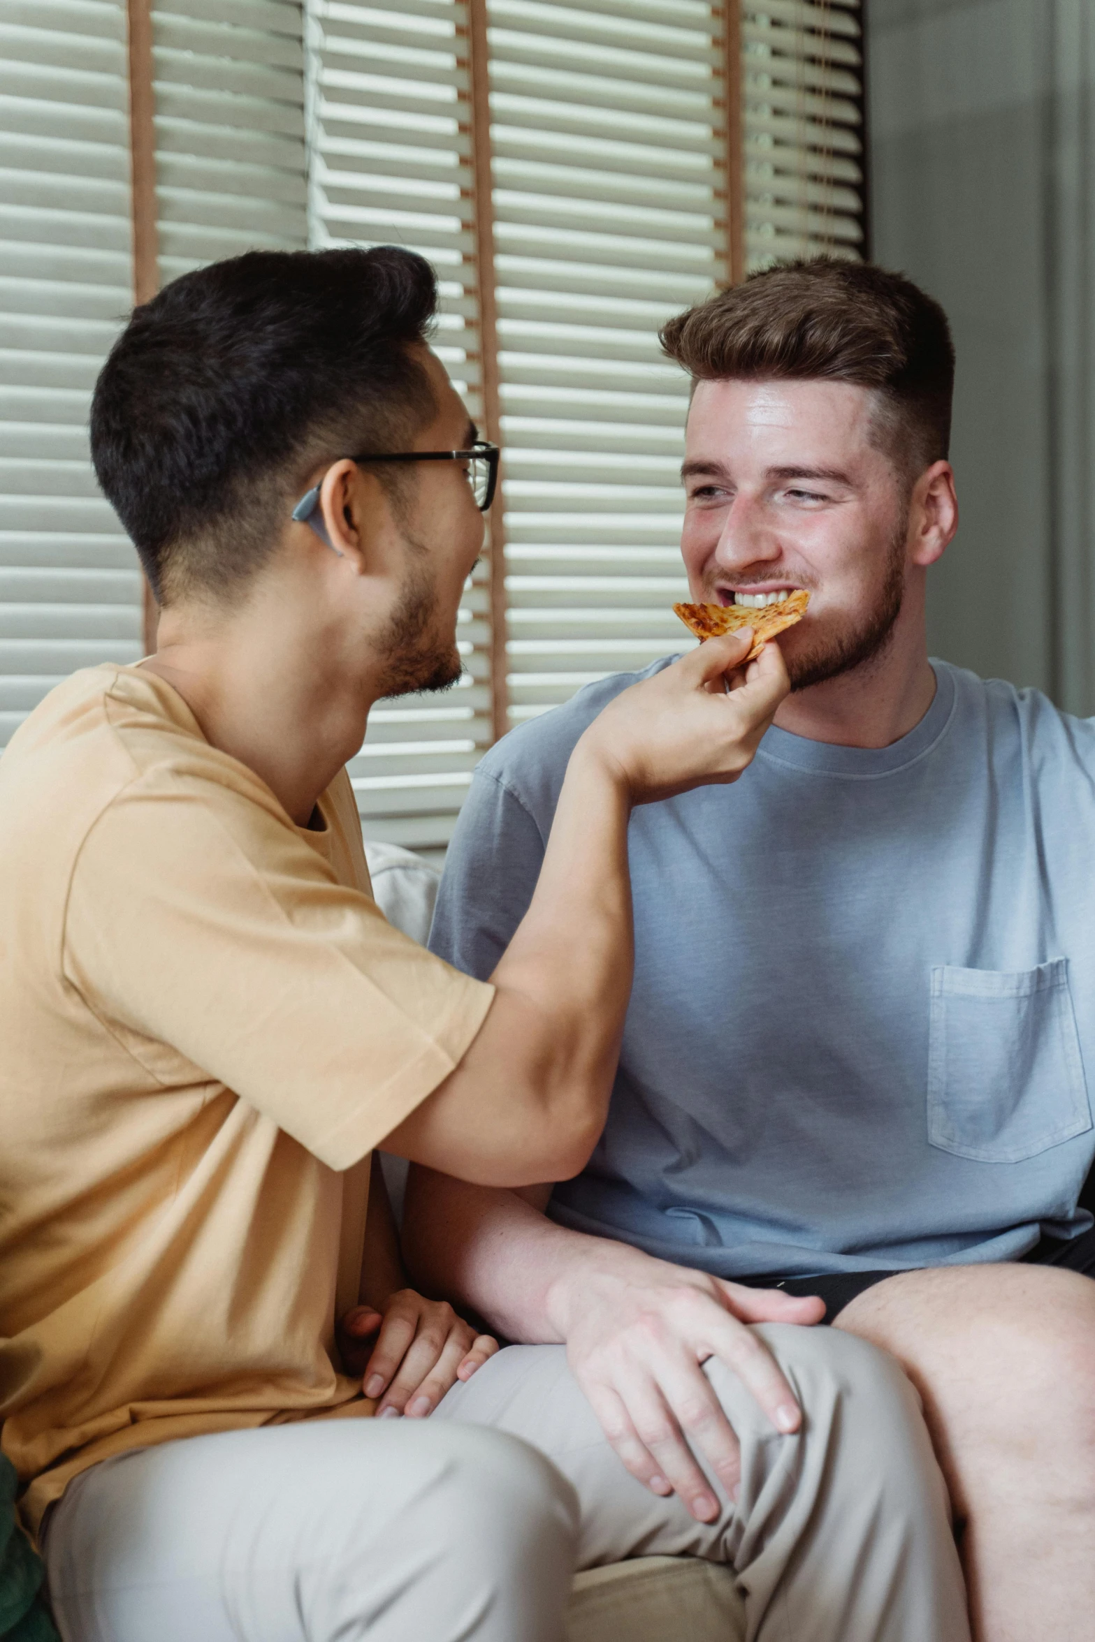
[[[770,729],[734,787],[632,814],[619,1074],[555,1220],[727,1277],[1015,1259],[1092,1223],[1095,721],[932,665],[891,747]],[[430,936],[460,969],[493,970],[570,750],[635,677],[479,765]]]

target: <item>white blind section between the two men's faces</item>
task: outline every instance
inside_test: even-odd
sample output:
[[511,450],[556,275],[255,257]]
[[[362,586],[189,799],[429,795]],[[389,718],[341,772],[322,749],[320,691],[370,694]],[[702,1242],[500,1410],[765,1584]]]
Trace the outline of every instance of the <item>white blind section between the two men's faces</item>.
[[696,0],[489,0],[511,719],[688,642],[688,381],[727,277],[726,43]]

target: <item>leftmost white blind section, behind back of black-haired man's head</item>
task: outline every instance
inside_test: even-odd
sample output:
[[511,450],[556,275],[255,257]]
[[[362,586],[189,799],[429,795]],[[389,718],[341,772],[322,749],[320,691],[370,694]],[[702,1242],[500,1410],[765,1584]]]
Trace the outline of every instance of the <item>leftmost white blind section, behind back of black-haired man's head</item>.
[[0,0],[0,747],[67,673],[141,654],[87,414],[131,304],[123,0]]

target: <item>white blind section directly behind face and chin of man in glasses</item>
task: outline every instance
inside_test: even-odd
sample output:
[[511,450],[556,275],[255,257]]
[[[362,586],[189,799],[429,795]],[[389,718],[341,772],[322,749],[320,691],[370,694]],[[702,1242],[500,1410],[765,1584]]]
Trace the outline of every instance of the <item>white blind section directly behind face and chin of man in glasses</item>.
[[[433,263],[435,350],[481,422],[481,342],[463,0],[314,0],[312,245],[404,245]],[[491,744],[489,598],[470,580],[456,631],[465,678],[381,701],[350,765],[369,839],[443,851]]]

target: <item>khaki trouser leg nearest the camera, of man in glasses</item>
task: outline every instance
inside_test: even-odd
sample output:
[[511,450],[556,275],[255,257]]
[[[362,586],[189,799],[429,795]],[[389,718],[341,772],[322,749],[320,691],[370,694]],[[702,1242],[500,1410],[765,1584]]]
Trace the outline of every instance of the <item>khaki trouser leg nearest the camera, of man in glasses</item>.
[[561,1642],[576,1516],[497,1432],[274,1425],[92,1466],[46,1575],[64,1642]]

